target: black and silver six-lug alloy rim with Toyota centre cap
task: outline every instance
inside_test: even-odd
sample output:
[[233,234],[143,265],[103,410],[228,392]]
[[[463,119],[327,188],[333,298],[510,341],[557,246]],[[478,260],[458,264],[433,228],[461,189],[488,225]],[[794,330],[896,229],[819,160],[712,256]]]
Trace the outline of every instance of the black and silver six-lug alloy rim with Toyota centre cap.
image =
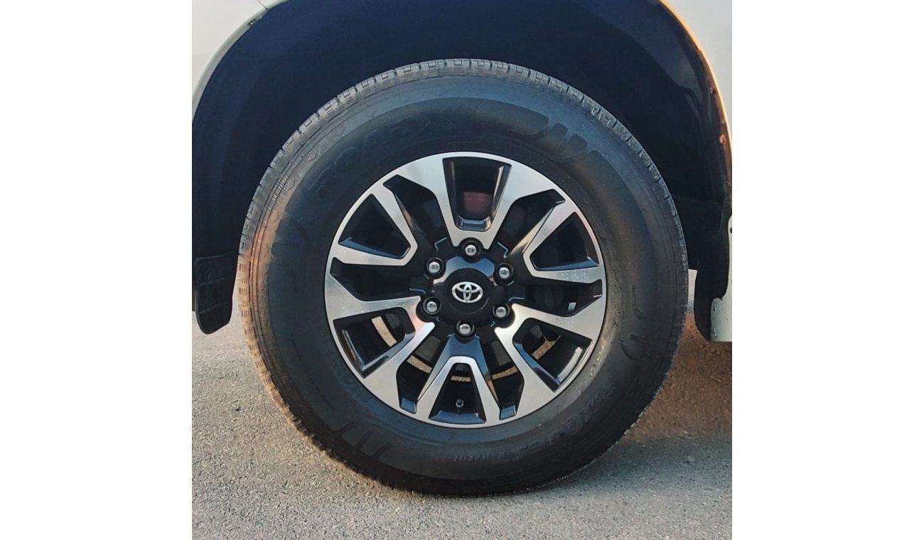
[[380,401],[438,426],[497,426],[553,402],[586,365],[606,275],[552,180],[448,152],[385,174],[346,212],[324,299],[343,360]]

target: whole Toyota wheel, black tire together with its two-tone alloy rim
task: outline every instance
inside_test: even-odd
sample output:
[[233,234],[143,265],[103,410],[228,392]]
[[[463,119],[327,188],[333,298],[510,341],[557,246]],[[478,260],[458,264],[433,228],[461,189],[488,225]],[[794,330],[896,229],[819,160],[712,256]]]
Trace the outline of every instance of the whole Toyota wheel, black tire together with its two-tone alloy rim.
[[520,66],[438,60],[325,104],[264,175],[240,306],[320,448],[420,492],[526,489],[654,398],[683,328],[673,201],[614,117]]

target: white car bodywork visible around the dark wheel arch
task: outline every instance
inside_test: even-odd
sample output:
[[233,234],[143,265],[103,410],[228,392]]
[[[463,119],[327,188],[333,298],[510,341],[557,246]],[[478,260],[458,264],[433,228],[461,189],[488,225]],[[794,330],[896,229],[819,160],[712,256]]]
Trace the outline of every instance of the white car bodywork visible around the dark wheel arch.
[[[193,114],[214,66],[250,24],[268,8],[285,0],[193,0],[192,85]],[[349,1],[349,0],[344,0]],[[663,4],[674,12],[697,43],[715,79],[723,103],[729,136],[732,131],[732,0],[669,0]],[[731,255],[731,221],[728,246]],[[712,341],[732,341],[732,272],[729,261],[728,292],[711,306]]]

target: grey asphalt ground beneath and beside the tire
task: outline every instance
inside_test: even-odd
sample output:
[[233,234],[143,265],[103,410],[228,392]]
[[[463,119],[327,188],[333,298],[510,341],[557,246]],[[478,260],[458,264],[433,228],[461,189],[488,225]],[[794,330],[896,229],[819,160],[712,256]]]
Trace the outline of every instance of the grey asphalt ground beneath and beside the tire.
[[379,486],[316,450],[275,407],[240,320],[193,322],[194,538],[728,538],[730,343],[692,317],[649,411],[613,449],[521,495],[435,498]]

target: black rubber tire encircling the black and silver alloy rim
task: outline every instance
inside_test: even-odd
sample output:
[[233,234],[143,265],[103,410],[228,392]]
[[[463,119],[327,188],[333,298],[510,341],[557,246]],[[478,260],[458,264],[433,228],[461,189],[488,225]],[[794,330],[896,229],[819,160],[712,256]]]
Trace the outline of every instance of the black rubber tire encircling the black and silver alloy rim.
[[[341,334],[331,310],[339,305],[325,283],[340,268],[330,262],[344,242],[337,233],[363,194],[403,163],[443,152],[500,156],[549,178],[586,217],[598,248],[597,255],[588,251],[587,257],[602,259],[597,261],[602,280],[588,300],[601,306],[602,323],[590,347],[575,349],[583,364],[569,365],[567,385],[535,411],[475,428],[421,421],[364,386],[359,367],[343,353],[344,342],[334,337]],[[524,203],[522,208],[531,207]],[[587,233],[582,238],[583,246],[590,246]],[[483,247],[481,255],[487,257]],[[412,258],[408,264],[423,263]],[[476,495],[564,477],[602,455],[636,422],[676,353],[687,306],[687,255],[661,175],[612,114],[565,83],[525,67],[436,60],[403,66],[346,90],[286,141],[250,206],[238,282],[244,328],[261,378],[315,445],[388,486]],[[564,291],[572,283],[548,286]],[[593,304],[593,298],[602,300]],[[430,320],[420,311],[407,314]],[[571,339],[565,331],[552,331],[562,342]],[[512,372],[525,380],[526,374]],[[466,385],[477,379],[458,373],[463,376],[446,380]],[[521,383],[514,391],[527,388]],[[478,400],[484,404],[483,396]],[[464,418],[483,417],[478,400],[475,413]],[[453,418],[463,418],[460,402],[465,403],[456,400]],[[521,396],[517,406],[523,402]]]

